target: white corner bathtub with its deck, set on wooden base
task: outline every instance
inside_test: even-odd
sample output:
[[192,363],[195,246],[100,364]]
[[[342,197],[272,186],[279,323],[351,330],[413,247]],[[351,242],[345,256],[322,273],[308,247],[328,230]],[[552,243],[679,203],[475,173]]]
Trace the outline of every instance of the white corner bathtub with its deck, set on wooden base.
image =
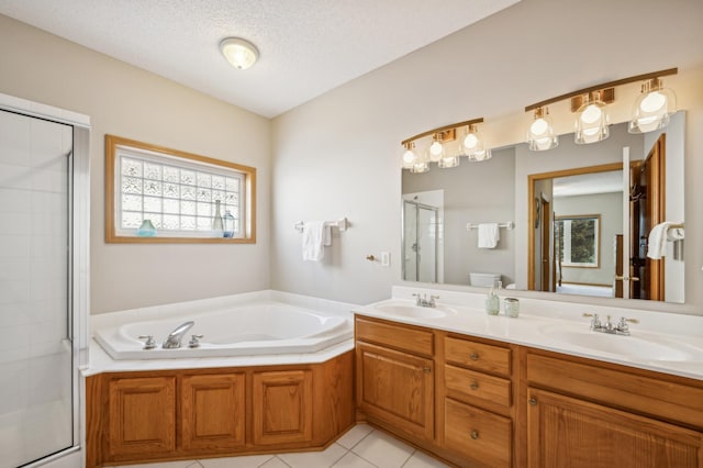
[[[93,315],[96,339],[90,346],[90,364],[82,374],[323,363],[354,348],[354,308],[279,291],[258,291]],[[160,344],[168,333],[190,320],[196,325],[183,336],[182,347],[163,349]],[[149,334],[158,346],[143,349],[144,341],[138,336]],[[188,347],[191,334],[204,335],[201,347]]]

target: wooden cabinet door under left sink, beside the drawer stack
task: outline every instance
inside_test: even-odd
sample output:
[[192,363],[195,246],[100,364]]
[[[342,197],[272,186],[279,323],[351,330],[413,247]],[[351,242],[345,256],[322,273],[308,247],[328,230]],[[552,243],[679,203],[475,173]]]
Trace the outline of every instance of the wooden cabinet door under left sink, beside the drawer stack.
[[434,364],[357,343],[357,405],[394,428],[434,439]]

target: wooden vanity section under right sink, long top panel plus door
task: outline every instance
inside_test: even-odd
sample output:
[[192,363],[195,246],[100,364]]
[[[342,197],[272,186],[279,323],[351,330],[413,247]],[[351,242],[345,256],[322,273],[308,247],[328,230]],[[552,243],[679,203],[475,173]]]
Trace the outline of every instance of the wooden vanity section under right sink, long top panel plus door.
[[527,466],[703,467],[703,385],[528,350]]

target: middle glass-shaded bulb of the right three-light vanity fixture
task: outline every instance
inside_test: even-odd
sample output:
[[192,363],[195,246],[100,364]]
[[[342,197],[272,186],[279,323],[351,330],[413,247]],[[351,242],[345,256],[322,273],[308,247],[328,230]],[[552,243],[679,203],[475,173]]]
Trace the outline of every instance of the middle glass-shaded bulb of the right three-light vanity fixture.
[[571,98],[571,111],[576,108],[577,113],[573,134],[577,144],[602,142],[610,136],[610,118],[605,108],[614,97],[615,88],[607,88]]

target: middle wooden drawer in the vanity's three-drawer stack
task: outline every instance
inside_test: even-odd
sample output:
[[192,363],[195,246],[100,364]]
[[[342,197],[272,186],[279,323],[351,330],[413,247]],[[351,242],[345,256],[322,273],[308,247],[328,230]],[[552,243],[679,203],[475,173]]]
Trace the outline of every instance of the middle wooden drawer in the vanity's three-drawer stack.
[[444,379],[447,393],[467,403],[511,405],[511,382],[507,379],[450,365],[444,368]]

